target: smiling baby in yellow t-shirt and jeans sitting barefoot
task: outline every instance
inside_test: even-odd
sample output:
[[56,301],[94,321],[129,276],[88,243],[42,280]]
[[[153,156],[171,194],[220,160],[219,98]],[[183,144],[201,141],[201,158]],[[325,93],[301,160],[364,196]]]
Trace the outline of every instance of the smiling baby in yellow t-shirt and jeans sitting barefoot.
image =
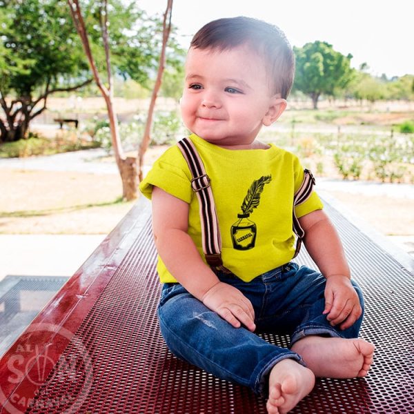
[[[295,155],[257,140],[284,112],[294,70],[275,26],[236,17],[201,28],[181,98],[193,161],[172,146],[140,185],[152,198],[168,348],[266,396],[268,413],[290,411],[315,377],[363,377],[374,351],[357,339],[362,293],[322,201],[312,191],[294,203],[308,172]],[[204,172],[194,177],[188,162]],[[292,262],[295,221],[319,270]],[[219,250],[211,254],[213,235]],[[266,331],[290,335],[289,348],[256,335]]]

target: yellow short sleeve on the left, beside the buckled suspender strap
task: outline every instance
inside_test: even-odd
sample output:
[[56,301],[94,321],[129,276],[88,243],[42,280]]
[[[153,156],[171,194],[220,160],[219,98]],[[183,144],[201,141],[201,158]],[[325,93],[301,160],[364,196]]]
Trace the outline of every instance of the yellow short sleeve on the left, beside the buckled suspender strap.
[[177,146],[166,150],[155,161],[144,180],[139,184],[139,190],[145,197],[151,199],[154,186],[190,203],[192,197],[190,170]]

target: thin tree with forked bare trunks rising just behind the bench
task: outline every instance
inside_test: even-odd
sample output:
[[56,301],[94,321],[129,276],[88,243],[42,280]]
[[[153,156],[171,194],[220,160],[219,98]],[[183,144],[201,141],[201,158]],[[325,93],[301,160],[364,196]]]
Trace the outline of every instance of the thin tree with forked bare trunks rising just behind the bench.
[[[109,13],[108,13],[108,0],[103,0],[99,2],[92,2],[90,3],[90,10],[89,13],[92,15],[97,16],[99,21],[99,30],[100,30],[100,39],[101,39],[101,48],[98,50],[92,50],[91,42],[90,42],[90,33],[88,32],[87,28],[88,25],[86,24],[86,19],[84,16],[88,17],[88,14],[83,14],[81,10],[81,5],[79,0],[67,0],[68,6],[70,7],[70,12],[72,14],[72,20],[75,23],[75,28],[79,33],[79,37],[81,38],[81,43],[83,45],[83,50],[85,52],[86,58],[88,59],[88,63],[90,65],[90,69],[92,71],[93,77],[99,90],[101,91],[101,95],[106,103],[106,108],[108,111],[108,118],[110,124],[110,132],[111,132],[111,141],[112,141],[112,149],[115,153],[115,161],[117,162],[117,166],[119,169],[119,173],[121,175],[122,180],[122,189],[123,189],[123,197],[127,200],[137,198],[137,158],[136,157],[126,157],[124,154],[124,150],[121,146],[121,140],[119,137],[119,130],[117,124],[117,115],[115,112],[115,106],[113,104],[113,77],[112,77],[112,47],[115,44],[118,44],[120,47],[113,48],[113,55],[117,57],[117,70],[122,73],[128,74],[132,79],[139,79],[141,76],[142,68],[139,65],[138,57],[141,57],[146,62],[147,66],[148,63],[154,60],[154,54],[148,53],[148,46],[152,43],[154,37],[152,39],[147,39],[148,43],[146,43],[145,48],[139,48],[139,42],[132,44],[135,46],[130,50],[130,54],[126,53],[130,48],[130,42],[122,43],[119,42],[119,33],[125,32],[128,30],[136,30],[134,27],[128,28],[126,26],[126,20],[121,19],[118,20],[118,25],[121,25],[120,30],[113,30],[111,28],[111,33],[109,33],[110,21],[109,21]],[[115,2],[112,1],[111,6],[112,10],[116,6],[121,6],[121,10],[127,9],[127,16],[130,17],[134,12],[136,12],[135,2],[130,3],[128,6],[126,3]],[[166,13],[164,14],[164,21],[163,21],[163,38],[162,38],[162,47],[161,47],[161,57],[159,59],[158,64],[158,71],[157,71],[157,79],[155,81],[155,87],[152,91],[152,99],[150,101],[150,108],[148,110],[148,118],[146,122],[146,132],[144,133],[144,138],[142,139],[140,150],[139,150],[139,161],[141,162],[144,157],[144,152],[148,146],[149,142],[149,130],[152,124],[152,112],[155,106],[155,99],[157,97],[157,92],[161,85],[161,77],[162,72],[164,70],[164,65],[166,61],[166,45],[168,42],[168,37],[170,34],[171,29],[171,9],[172,9],[172,0],[168,0],[168,6]],[[137,25],[138,19],[135,19],[135,26]],[[113,35],[112,35],[113,30]],[[110,36],[111,34],[111,36]],[[96,35],[96,32],[95,32]],[[93,37],[93,34],[92,34]],[[119,44],[120,43],[120,44]],[[95,59],[95,52],[99,54],[99,51],[103,50],[103,63],[101,64],[101,70],[103,70],[104,77],[101,76],[99,73],[99,67],[97,66],[97,60]],[[106,84],[104,82],[106,79]],[[143,79],[141,79],[142,81]],[[140,164],[141,165],[141,164]]]

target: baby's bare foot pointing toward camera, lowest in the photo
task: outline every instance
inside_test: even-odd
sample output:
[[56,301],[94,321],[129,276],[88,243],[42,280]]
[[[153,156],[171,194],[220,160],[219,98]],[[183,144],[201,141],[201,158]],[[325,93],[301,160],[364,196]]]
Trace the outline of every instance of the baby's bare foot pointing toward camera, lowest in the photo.
[[312,391],[315,375],[294,359],[282,359],[269,375],[269,414],[284,414]]

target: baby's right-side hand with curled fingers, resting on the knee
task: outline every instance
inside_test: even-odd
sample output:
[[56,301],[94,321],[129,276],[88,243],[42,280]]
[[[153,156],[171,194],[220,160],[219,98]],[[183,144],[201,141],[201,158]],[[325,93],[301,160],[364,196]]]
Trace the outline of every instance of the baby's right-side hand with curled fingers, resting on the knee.
[[352,326],[362,315],[359,297],[348,277],[333,275],[326,279],[323,313],[332,326],[341,324],[342,330]]

